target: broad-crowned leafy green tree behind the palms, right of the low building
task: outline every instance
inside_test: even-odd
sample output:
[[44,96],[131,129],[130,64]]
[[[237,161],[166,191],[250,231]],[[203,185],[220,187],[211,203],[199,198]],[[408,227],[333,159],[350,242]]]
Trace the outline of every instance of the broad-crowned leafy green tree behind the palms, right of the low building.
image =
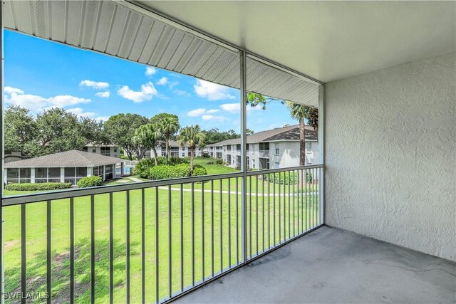
[[147,123],[149,123],[147,117],[120,113],[109,117],[108,121],[105,122],[105,132],[110,141],[121,147],[128,159],[131,160],[134,154],[140,154],[137,143],[132,141],[135,130],[142,125],[147,125]]

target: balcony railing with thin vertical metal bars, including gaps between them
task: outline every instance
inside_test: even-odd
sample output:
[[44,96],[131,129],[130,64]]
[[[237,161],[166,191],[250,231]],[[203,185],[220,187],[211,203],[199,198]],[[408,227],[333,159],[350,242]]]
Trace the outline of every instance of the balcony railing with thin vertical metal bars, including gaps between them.
[[321,226],[322,174],[316,165],[5,197],[5,291],[162,303]]

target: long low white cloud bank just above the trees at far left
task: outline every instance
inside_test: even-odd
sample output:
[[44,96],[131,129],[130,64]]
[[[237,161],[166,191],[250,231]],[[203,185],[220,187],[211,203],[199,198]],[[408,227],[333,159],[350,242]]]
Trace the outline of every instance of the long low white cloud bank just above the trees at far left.
[[43,110],[46,108],[65,108],[68,105],[77,105],[80,103],[90,103],[90,99],[78,98],[71,95],[57,95],[50,98],[43,98],[38,95],[25,94],[18,88],[8,88],[5,90],[5,103],[11,105],[20,105],[29,110]]

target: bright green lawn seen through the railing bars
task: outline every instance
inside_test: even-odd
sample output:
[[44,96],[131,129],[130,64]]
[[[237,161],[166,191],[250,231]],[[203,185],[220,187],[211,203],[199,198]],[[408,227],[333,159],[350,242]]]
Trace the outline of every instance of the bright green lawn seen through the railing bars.
[[[207,159],[211,160],[211,159]],[[196,159],[204,162],[206,159]],[[217,168],[224,170],[232,168],[217,164],[204,164],[207,170],[216,172]],[[222,170],[222,169],[220,169]],[[228,172],[228,171],[224,171]],[[211,173],[214,174],[214,173]],[[279,240],[289,238],[298,233],[298,214],[301,222],[301,214],[306,214],[307,229],[317,223],[316,216],[312,217],[318,205],[316,193],[309,194],[307,199],[293,191],[288,196],[288,186],[281,185],[281,196],[276,192],[272,195],[273,187],[279,189],[279,185],[271,184],[261,179],[252,178],[254,182],[253,193],[259,187],[259,196],[247,197],[247,233],[249,254],[257,253],[264,248],[278,243]],[[249,184],[249,182],[248,182]],[[204,190],[210,189],[210,182],[204,183]],[[216,188],[216,185],[218,188]],[[234,186],[233,186],[234,185]],[[185,185],[184,189],[191,185]],[[182,208],[180,202],[180,185],[173,185],[171,192],[165,189],[145,189],[145,295],[146,302],[154,302],[156,298],[155,288],[155,261],[158,258],[160,266],[159,274],[159,297],[165,298],[175,293],[183,285],[192,284],[192,248],[195,250],[195,281],[203,276],[203,253],[204,253],[204,277],[212,275],[212,263],[214,273],[220,268],[227,268],[237,263],[241,258],[241,197],[235,192],[228,194],[220,193],[219,189],[228,189],[228,179],[224,179],[222,185],[214,183],[214,193],[199,190],[202,184],[194,184],[197,191],[194,193],[192,212],[192,192],[182,192]],[[231,179],[230,188],[234,189],[235,179]],[[239,179],[240,187],[240,179]],[[267,195],[267,189],[271,195]],[[310,185],[309,185],[310,188]],[[177,189],[177,190],[175,190]],[[240,188],[239,188],[240,189]],[[261,196],[261,190],[265,195]],[[285,195],[284,195],[285,192]],[[158,200],[156,194],[158,193]],[[8,193],[12,195],[13,193]],[[14,193],[19,194],[19,193]],[[168,195],[171,198],[169,203]],[[239,192],[240,194],[240,192]],[[126,192],[113,194],[113,237],[114,237],[114,302],[125,302],[126,290]],[[213,195],[213,201],[212,199]],[[204,207],[202,198],[204,197]],[[130,191],[130,300],[139,303],[141,300],[141,214],[142,214],[141,190]],[[213,204],[212,204],[213,202]],[[275,203],[275,204],[274,204]],[[78,303],[90,301],[90,197],[78,197],[74,199],[75,206],[75,275],[76,297]],[[158,206],[158,214],[156,207]],[[213,206],[213,208],[212,208]],[[251,208],[252,206],[252,208]],[[264,208],[263,208],[264,206]],[[303,211],[304,206],[304,211]],[[171,209],[171,210],[170,210]],[[299,213],[298,213],[299,209]],[[279,211],[280,210],[280,211]],[[203,215],[204,211],[204,215]],[[212,213],[214,214],[212,220]],[[21,280],[21,217],[20,206],[4,207],[4,265],[5,265],[5,291],[20,289]],[[181,214],[183,226],[181,226]],[[268,218],[270,228],[268,229]],[[158,227],[155,224],[158,219]],[[171,221],[169,220],[171,219]],[[194,219],[194,227],[192,227]],[[263,220],[264,219],[264,220]],[[279,225],[280,221],[280,225]],[[52,294],[53,301],[67,303],[69,297],[69,199],[52,202]],[[250,229],[252,223],[252,229]],[[171,233],[169,225],[171,224]],[[274,227],[275,224],[275,227]],[[214,230],[212,231],[212,225]],[[204,240],[202,237],[204,226]],[[280,229],[279,229],[280,226]],[[258,227],[258,229],[257,229]],[[263,229],[264,227],[264,229]],[[158,228],[158,255],[155,247]],[[192,236],[192,228],[195,234]],[[27,254],[27,282],[28,291],[46,290],[46,203],[36,203],[26,206],[26,254]],[[182,230],[183,229],[183,230]],[[303,227],[299,227],[302,231]],[[306,229],[306,226],[304,226]],[[182,236],[181,238],[181,231]],[[222,233],[221,233],[222,231]],[[221,237],[222,235],[222,237]],[[258,235],[258,237],[257,237]],[[274,241],[275,235],[275,241]],[[212,238],[214,239],[212,261]],[[195,243],[192,243],[195,239]],[[264,242],[263,242],[264,239]],[[237,240],[239,243],[237,243]],[[181,241],[183,248],[181,247]],[[204,241],[204,246],[203,246]],[[252,243],[252,249],[250,249]],[[257,245],[258,243],[258,245]],[[239,252],[237,251],[239,247]],[[181,260],[181,249],[183,260]],[[169,258],[171,256],[171,259]],[[222,258],[221,258],[222,256]],[[169,290],[170,275],[169,266],[171,260],[171,286]],[[181,278],[181,262],[183,263],[184,276]],[[109,195],[98,194],[95,196],[95,295],[98,303],[108,302],[109,293]]]

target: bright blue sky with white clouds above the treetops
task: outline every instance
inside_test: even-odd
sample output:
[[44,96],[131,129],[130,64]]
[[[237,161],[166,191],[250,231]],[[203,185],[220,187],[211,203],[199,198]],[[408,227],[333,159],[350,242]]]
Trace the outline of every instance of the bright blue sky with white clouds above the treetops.
[[[107,120],[118,113],[169,112],[180,124],[239,132],[239,90],[92,51],[4,31],[5,102],[33,113],[61,107]],[[255,132],[296,124],[279,102],[248,109]]]

